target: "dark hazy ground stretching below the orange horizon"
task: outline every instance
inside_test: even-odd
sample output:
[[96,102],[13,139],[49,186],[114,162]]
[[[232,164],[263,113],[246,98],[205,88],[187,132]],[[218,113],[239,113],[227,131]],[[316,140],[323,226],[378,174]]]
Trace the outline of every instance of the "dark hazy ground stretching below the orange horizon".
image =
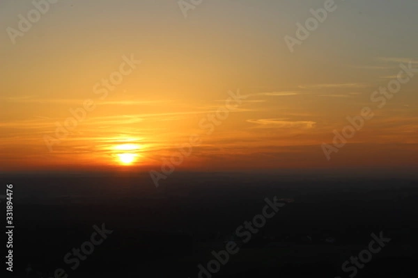
[[[56,268],[68,277],[198,277],[197,265],[214,259],[211,252],[224,250],[274,196],[294,202],[238,243],[240,252],[213,277],[348,277],[341,265],[380,231],[392,240],[356,277],[411,277],[418,259],[414,177],[177,173],[160,188],[148,173],[2,174],[0,181],[15,186],[15,277],[26,277],[29,263],[47,277]],[[113,234],[71,270],[63,257],[102,223]]]

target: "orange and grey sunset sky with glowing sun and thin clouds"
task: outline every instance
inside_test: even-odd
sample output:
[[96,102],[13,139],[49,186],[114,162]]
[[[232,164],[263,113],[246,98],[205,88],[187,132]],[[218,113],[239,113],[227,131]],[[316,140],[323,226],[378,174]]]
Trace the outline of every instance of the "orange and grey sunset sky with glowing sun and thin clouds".
[[417,166],[415,0],[336,0],[304,40],[326,1],[35,2],[0,3],[0,172]]

